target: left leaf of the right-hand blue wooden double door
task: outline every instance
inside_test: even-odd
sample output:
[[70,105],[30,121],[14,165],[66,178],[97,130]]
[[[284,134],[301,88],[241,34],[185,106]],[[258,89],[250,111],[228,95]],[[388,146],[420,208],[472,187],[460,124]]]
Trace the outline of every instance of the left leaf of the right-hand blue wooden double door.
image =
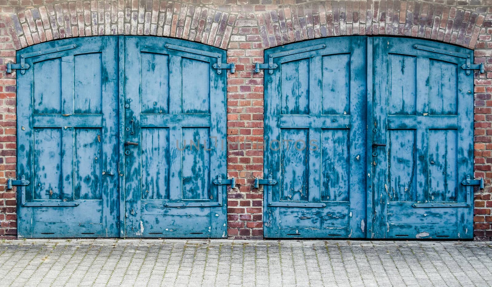
[[264,236],[366,236],[366,38],[265,51]]

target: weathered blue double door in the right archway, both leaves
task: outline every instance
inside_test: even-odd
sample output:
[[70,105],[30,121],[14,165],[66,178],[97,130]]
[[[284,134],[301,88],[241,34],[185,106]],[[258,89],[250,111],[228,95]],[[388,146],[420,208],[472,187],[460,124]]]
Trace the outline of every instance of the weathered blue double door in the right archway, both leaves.
[[472,238],[472,54],[359,36],[265,51],[265,237]]

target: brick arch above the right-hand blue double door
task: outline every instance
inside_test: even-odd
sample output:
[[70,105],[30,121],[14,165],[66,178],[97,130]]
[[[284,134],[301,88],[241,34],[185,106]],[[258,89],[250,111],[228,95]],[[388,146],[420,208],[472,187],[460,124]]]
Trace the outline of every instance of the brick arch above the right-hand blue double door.
[[259,14],[263,46],[266,49],[330,36],[393,35],[474,49],[479,35],[485,34],[481,29],[485,17],[472,10],[414,0],[395,1],[395,5],[393,1],[388,1],[391,5],[368,3],[311,2]]

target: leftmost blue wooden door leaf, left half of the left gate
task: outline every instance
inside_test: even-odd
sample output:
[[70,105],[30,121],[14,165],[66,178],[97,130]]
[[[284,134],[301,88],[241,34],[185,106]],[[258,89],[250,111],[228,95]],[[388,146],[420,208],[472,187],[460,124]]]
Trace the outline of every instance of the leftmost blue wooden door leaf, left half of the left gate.
[[118,236],[117,37],[17,53],[19,237]]

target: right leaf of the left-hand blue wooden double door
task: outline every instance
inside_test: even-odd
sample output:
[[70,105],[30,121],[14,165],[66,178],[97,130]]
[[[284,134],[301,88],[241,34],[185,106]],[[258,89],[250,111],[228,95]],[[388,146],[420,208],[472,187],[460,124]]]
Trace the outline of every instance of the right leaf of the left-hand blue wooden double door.
[[124,49],[126,236],[226,237],[225,51],[138,36]]

